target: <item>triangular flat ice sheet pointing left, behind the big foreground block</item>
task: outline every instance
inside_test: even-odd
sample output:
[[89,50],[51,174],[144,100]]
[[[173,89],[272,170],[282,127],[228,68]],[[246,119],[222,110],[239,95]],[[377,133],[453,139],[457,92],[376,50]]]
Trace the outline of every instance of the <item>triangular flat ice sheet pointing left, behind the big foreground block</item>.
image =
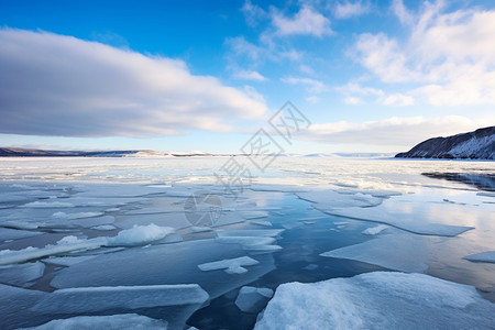
[[329,252],[321,256],[348,258],[388,270],[422,273],[428,270],[428,237],[413,234],[381,235],[364,243]]

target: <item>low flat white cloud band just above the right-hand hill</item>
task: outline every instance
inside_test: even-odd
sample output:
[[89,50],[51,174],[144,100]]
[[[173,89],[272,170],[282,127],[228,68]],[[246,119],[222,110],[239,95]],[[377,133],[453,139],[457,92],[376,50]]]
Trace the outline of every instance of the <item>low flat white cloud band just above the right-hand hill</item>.
[[304,139],[332,144],[396,145],[410,148],[429,138],[469,132],[484,124],[486,125],[481,120],[474,121],[457,116],[393,117],[362,123],[346,121],[314,123]]

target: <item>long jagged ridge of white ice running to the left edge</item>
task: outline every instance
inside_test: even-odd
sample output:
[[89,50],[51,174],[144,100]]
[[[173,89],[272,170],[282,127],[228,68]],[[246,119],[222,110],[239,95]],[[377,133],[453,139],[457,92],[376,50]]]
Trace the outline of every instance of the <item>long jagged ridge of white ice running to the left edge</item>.
[[30,246],[23,250],[2,250],[0,251],[0,265],[22,263],[74,251],[95,250],[101,246],[145,245],[162,240],[172,232],[174,232],[172,228],[158,227],[152,223],[150,226],[134,226],[132,229],[122,230],[113,238],[99,237],[85,240],[76,237],[65,237],[57,244],[46,245],[45,248],[37,249]]

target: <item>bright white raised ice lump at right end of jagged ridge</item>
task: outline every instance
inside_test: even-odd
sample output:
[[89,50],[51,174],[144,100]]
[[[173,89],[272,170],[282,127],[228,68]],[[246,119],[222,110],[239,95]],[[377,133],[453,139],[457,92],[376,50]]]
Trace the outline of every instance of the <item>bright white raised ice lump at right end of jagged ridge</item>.
[[107,246],[134,246],[144,245],[164,239],[174,232],[173,228],[148,226],[134,226],[132,229],[120,231],[117,237],[107,239]]

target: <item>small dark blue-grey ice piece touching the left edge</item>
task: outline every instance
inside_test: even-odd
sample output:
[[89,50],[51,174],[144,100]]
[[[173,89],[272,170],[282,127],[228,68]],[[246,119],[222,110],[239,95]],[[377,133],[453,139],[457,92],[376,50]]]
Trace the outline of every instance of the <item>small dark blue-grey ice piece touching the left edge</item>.
[[41,262],[0,267],[0,283],[28,286],[30,282],[43,276],[45,265]]

